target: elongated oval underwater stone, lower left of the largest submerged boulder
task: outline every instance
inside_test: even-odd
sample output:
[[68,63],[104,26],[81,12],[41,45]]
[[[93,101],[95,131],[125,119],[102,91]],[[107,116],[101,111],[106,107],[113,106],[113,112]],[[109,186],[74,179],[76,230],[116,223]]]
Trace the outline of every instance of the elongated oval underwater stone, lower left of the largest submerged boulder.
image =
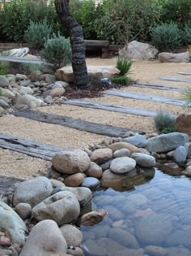
[[111,228],[108,232],[108,237],[125,247],[132,249],[139,248],[138,241],[135,236],[122,228]]

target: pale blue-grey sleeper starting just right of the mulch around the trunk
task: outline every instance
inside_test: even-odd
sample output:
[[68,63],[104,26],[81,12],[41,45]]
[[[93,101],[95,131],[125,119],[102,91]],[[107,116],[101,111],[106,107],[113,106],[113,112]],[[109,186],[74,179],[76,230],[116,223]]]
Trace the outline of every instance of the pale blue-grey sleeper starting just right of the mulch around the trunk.
[[117,89],[108,89],[102,92],[102,94],[113,95],[113,96],[123,97],[123,98],[134,98],[134,99],[143,100],[143,101],[159,102],[159,103],[171,104],[176,106],[186,106],[185,101],[176,100],[173,98],[158,97],[151,94],[125,92]]

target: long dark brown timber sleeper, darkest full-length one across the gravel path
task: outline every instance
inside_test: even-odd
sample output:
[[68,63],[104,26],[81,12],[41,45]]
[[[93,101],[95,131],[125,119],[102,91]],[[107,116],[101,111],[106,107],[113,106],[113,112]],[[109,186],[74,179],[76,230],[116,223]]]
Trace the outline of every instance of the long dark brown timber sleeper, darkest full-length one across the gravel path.
[[[108,137],[122,137],[125,132],[129,131],[129,128],[121,128],[112,125],[92,123],[83,119],[74,119],[72,117],[53,115],[39,111],[16,111],[14,115],[43,123],[59,124],[65,127],[75,128],[80,131],[96,133]],[[142,131],[138,130],[134,130],[132,132],[143,133]]]

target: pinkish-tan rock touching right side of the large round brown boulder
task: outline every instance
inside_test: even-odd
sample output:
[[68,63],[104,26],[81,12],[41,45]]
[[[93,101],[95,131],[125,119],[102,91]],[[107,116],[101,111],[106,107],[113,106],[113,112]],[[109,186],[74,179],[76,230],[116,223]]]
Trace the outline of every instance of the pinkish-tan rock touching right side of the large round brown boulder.
[[94,150],[91,153],[91,162],[95,162],[98,164],[107,162],[110,158],[112,158],[112,150],[110,149],[99,149]]

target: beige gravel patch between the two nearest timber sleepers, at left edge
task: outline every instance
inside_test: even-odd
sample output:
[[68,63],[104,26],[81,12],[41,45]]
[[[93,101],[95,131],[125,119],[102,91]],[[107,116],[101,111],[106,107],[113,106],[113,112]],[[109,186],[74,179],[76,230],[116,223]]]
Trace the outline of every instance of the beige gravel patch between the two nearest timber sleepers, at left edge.
[[27,154],[21,154],[11,150],[1,150],[1,171],[2,176],[14,176],[19,179],[30,179],[49,169],[51,163],[40,158],[32,158]]

